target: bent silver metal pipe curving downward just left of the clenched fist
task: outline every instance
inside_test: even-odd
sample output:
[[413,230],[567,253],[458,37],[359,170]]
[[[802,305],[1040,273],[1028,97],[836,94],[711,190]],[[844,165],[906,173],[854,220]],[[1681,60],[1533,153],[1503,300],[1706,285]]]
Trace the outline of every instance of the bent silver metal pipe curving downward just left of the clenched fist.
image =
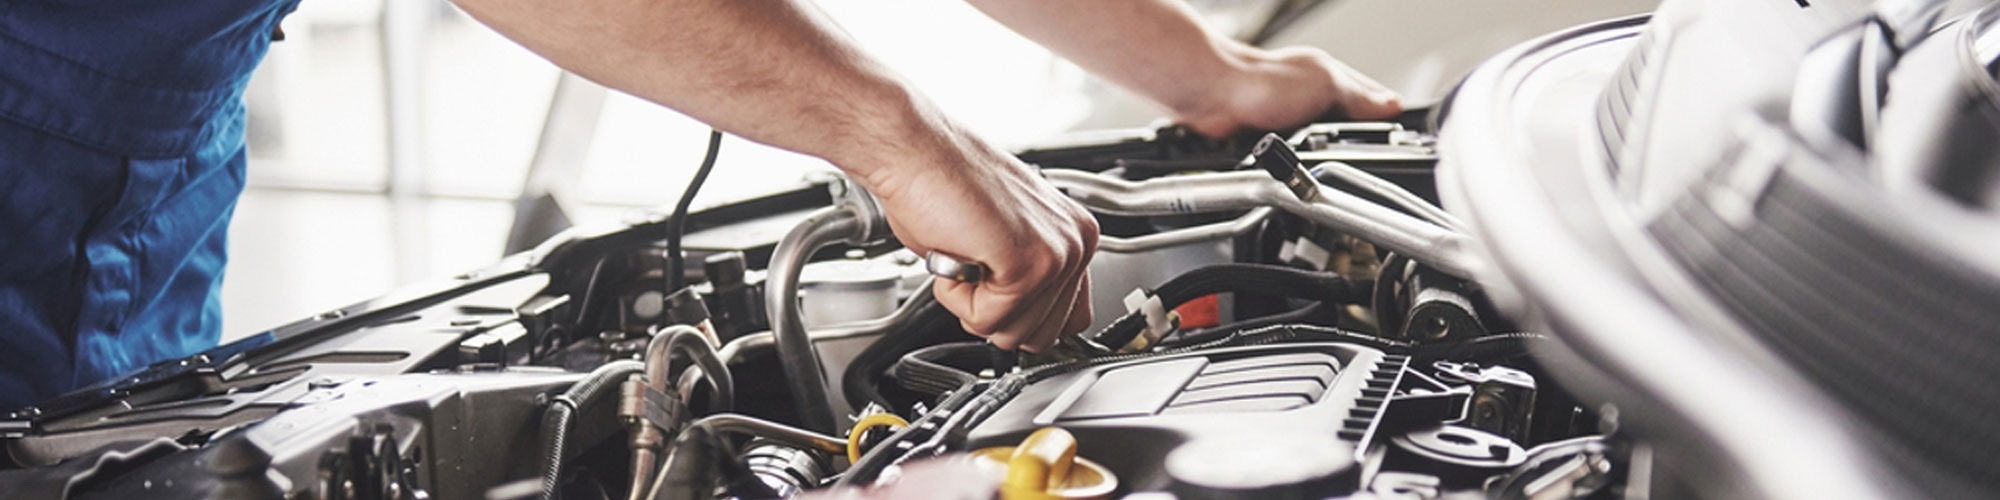
[[812,430],[832,432],[836,420],[826,396],[820,354],[812,350],[812,338],[806,336],[806,324],[798,310],[798,272],[812,258],[812,252],[860,238],[864,232],[866,224],[850,206],[812,212],[784,234],[784,240],[778,240],[764,274],[764,310],[770,312],[770,332],[778,344],[778,360],[784,364],[784,380],[792,390],[800,422]]

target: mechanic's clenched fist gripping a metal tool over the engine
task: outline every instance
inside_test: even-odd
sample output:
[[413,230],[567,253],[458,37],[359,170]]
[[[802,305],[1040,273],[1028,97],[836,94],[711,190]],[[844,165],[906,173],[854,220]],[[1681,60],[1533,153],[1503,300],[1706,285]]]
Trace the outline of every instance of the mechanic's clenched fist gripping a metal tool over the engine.
[[938,278],[938,302],[1004,350],[1042,350],[1088,328],[1096,218],[1012,154],[942,128],[914,158],[860,178],[904,246],[986,264],[980,282]]

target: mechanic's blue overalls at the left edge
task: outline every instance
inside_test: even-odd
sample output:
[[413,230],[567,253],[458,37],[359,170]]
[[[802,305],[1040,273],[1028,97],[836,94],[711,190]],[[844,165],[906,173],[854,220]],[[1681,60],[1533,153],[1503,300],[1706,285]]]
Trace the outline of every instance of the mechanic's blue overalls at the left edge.
[[0,410],[216,344],[242,90],[296,2],[0,2]]

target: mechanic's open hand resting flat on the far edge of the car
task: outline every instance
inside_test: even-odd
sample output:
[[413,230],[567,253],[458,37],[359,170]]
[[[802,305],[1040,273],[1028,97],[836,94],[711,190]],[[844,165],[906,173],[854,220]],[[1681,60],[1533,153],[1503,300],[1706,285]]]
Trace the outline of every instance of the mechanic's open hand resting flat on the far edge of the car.
[[1242,48],[1238,72],[1174,118],[1210,138],[1236,130],[1284,130],[1328,112],[1350,120],[1386,120],[1402,96],[1318,48]]

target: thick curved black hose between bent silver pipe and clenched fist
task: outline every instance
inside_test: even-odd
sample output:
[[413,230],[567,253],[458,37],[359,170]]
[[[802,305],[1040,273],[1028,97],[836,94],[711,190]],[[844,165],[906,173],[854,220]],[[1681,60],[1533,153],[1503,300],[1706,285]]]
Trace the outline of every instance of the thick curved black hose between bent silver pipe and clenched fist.
[[876,342],[870,342],[862,354],[848,362],[848,370],[840,374],[842,394],[848,398],[850,408],[862,408],[870,402],[892,406],[888,398],[876,388],[876,376],[894,368],[904,354],[918,348],[936,346],[938,342],[958,340],[964,328],[958,326],[958,316],[952,316],[930,292],[920,292],[910,300],[924,300],[906,324],[882,334]]

